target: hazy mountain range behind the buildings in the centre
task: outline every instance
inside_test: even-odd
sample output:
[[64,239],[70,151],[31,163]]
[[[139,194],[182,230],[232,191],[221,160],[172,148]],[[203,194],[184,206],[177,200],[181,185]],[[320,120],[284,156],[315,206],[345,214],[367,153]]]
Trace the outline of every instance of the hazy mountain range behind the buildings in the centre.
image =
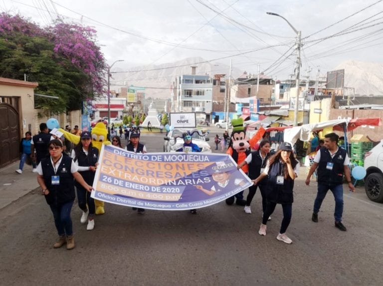
[[[170,87],[176,76],[191,74],[191,65],[197,66],[196,74],[229,74],[229,65],[220,62],[204,62],[201,57],[189,57],[183,60],[164,63],[160,65],[136,66],[128,70],[137,71],[129,73],[114,73],[111,79],[111,89],[118,90],[122,86],[144,86],[145,96],[153,98],[168,99],[171,97]],[[203,62],[203,63],[198,63]],[[124,71],[121,68],[113,68],[113,72]],[[243,71],[232,68],[231,76],[237,78]],[[155,87],[155,88],[149,88]]]

